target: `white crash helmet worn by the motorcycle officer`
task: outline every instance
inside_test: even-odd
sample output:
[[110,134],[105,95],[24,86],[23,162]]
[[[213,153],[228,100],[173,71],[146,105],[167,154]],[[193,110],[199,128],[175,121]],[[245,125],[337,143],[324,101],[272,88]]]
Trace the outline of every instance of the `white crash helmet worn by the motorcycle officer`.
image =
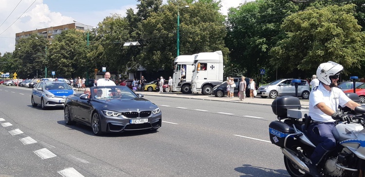
[[323,84],[331,85],[330,76],[339,75],[344,70],[344,67],[333,61],[322,63],[317,68],[317,79]]

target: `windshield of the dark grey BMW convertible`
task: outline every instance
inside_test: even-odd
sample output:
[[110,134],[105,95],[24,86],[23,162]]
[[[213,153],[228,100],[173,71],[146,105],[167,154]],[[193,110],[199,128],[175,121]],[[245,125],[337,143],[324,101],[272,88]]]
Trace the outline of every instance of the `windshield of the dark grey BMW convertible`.
[[92,90],[91,97],[99,100],[138,98],[131,89],[124,86],[95,87]]

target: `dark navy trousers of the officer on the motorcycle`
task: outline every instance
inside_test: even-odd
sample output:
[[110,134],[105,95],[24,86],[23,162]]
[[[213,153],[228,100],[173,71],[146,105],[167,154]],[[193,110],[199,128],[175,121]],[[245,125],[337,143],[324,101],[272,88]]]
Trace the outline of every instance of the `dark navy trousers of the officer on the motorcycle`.
[[310,156],[312,164],[316,165],[327,152],[333,150],[336,146],[336,140],[332,135],[332,128],[335,125],[335,123],[313,122],[308,127],[309,139],[316,146]]

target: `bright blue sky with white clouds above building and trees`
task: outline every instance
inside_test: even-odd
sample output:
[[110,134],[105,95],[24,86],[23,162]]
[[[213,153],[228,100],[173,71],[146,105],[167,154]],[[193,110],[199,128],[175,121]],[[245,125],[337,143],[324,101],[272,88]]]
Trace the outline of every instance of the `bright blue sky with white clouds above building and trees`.
[[[250,0],[248,0],[250,1]],[[166,3],[167,0],[163,0]],[[221,0],[221,13],[245,0]],[[0,0],[0,53],[13,52],[15,34],[51,26],[73,23],[97,24],[110,14],[126,15],[135,9],[137,0]]]

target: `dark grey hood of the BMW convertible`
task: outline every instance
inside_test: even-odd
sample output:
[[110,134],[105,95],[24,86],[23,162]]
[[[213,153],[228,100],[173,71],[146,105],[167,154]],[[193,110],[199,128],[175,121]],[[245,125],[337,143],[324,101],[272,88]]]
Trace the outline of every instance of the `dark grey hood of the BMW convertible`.
[[154,110],[157,106],[144,98],[96,100],[100,106],[112,111]]

